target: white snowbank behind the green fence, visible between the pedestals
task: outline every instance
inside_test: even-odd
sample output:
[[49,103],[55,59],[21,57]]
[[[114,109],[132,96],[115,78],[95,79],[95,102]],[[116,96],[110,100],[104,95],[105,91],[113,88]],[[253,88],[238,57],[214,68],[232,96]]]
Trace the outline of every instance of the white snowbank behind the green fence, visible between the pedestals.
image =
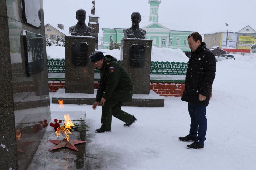
[[[99,49],[98,51],[102,51],[104,55],[108,54],[117,58],[117,60],[120,60],[120,50],[118,49]],[[48,59],[65,58],[65,47],[55,45],[52,45],[51,47],[47,46],[46,52]],[[158,48],[153,46],[151,61],[187,62],[188,58],[181,49]]]

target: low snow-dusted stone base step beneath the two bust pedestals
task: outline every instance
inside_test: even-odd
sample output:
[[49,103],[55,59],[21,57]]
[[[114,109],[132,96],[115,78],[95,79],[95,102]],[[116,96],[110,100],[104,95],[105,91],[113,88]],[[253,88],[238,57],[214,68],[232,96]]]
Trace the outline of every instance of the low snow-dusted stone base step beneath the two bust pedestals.
[[[97,89],[94,89],[94,94],[65,93],[65,89],[59,89],[53,95],[52,103],[58,104],[58,100],[63,100],[64,104],[92,105],[95,102],[96,94]],[[133,94],[132,102],[125,102],[122,106],[164,107],[164,97],[150,90],[149,95]]]

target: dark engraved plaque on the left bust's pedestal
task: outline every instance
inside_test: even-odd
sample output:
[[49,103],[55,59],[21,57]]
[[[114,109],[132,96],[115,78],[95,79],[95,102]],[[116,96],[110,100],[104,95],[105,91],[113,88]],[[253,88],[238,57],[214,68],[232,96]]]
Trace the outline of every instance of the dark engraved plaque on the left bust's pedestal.
[[72,58],[75,66],[86,66],[88,57],[87,42],[74,42],[72,44]]

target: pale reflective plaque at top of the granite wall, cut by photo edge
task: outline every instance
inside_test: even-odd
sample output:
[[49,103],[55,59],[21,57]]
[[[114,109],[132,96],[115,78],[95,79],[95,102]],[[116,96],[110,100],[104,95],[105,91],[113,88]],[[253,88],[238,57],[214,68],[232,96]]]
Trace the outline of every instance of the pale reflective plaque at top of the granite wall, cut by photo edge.
[[40,0],[22,0],[22,14],[25,23],[40,28],[41,11]]

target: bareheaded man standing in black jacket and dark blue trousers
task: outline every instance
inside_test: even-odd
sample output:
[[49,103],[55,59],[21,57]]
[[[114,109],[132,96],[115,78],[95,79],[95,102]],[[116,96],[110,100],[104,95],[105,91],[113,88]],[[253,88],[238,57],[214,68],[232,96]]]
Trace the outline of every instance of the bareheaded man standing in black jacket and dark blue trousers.
[[[187,145],[189,149],[204,147],[206,140],[206,106],[209,104],[212,84],[216,72],[216,59],[213,53],[206,48],[202,36],[194,32],[188,36],[191,54],[185,80],[185,90],[181,100],[188,102],[188,112],[191,118],[190,131],[181,141],[192,141]],[[198,133],[197,133],[198,132]],[[198,134],[198,136],[197,136]]]

